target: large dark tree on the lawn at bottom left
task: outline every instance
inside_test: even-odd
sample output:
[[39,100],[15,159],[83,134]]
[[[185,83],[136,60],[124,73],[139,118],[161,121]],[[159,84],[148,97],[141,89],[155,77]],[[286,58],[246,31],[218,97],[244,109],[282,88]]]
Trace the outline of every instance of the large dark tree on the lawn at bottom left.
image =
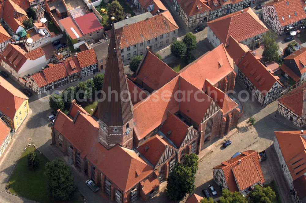
[[47,190],[51,192],[52,197],[60,200],[69,200],[73,197],[77,188],[74,184],[71,168],[60,158],[48,162],[45,167]]

